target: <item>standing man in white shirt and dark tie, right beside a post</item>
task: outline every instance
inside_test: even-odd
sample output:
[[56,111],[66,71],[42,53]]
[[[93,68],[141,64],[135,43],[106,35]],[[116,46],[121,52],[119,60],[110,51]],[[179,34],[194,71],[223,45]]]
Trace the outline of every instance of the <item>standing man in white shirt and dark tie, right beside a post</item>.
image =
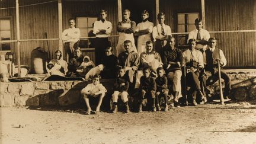
[[155,27],[153,27],[152,37],[155,42],[155,51],[158,53],[162,53],[163,47],[167,44],[168,36],[171,37],[171,27],[169,25],[164,24],[165,14],[160,12],[158,14],[158,23]]

